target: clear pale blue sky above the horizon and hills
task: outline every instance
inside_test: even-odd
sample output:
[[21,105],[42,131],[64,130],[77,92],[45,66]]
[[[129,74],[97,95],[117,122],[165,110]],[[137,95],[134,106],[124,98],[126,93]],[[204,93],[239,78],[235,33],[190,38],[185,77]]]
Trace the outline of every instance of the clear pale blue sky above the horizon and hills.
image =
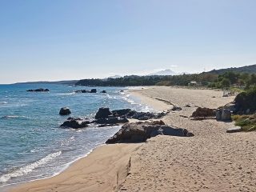
[[0,0],[0,83],[256,64],[254,0]]

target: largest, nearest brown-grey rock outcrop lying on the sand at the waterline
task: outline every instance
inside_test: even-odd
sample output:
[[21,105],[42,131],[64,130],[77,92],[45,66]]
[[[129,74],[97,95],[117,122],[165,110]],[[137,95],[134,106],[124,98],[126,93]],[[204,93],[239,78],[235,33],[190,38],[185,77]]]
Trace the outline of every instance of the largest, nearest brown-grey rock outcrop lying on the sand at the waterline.
[[188,137],[194,135],[189,133],[186,129],[173,128],[163,125],[162,121],[134,122],[123,125],[118,133],[109,138],[106,143],[145,142],[147,138],[154,137],[158,134],[173,135],[178,137]]

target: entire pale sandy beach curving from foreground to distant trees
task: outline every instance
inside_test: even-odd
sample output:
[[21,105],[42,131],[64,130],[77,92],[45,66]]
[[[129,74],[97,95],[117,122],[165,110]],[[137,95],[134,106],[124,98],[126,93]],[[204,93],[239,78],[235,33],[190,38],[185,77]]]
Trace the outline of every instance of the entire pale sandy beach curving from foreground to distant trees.
[[62,174],[10,191],[256,191],[256,133],[226,134],[233,122],[186,118],[198,106],[217,108],[234,97],[223,98],[222,91],[158,86],[131,93],[157,110],[181,106],[162,120],[195,136],[100,146]]

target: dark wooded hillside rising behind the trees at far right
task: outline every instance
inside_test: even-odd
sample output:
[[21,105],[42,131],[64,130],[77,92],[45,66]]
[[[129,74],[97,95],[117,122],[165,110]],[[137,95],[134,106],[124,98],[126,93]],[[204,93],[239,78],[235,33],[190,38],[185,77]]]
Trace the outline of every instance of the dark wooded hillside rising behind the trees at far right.
[[230,67],[221,70],[210,70],[206,73],[209,74],[225,74],[228,71],[233,71],[236,73],[248,73],[248,74],[255,74],[256,73],[256,64],[252,66],[241,66],[241,67]]

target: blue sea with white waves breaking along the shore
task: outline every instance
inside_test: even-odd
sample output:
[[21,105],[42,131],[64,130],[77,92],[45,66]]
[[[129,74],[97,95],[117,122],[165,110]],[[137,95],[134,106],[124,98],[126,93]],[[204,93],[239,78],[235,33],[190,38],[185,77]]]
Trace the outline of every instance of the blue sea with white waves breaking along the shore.
[[[49,92],[26,92],[44,88]],[[97,89],[96,94],[74,90]],[[120,126],[64,129],[68,117],[93,118],[98,108],[154,111],[128,90],[140,87],[82,87],[57,84],[0,85],[0,190],[12,184],[49,178],[90,154]],[[106,90],[106,94],[100,91]],[[124,90],[123,92],[121,90]],[[69,116],[59,110],[68,106]]]

